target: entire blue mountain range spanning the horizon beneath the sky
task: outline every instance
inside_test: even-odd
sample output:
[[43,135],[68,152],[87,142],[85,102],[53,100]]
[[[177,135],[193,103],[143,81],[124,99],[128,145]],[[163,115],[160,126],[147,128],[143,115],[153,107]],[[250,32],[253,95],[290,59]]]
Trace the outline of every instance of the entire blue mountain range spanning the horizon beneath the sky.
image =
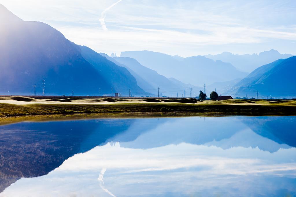
[[[23,21],[0,4],[0,94],[190,96],[216,88],[234,97],[295,97],[295,56],[257,54],[170,56],[125,51],[120,57],[67,40],[42,22]],[[272,62],[272,63],[271,63]],[[261,66],[263,65],[264,66]],[[254,71],[252,69],[255,68]],[[241,71],[244,70],[244,71]],[[245,71],[252,71],[249,75]]]

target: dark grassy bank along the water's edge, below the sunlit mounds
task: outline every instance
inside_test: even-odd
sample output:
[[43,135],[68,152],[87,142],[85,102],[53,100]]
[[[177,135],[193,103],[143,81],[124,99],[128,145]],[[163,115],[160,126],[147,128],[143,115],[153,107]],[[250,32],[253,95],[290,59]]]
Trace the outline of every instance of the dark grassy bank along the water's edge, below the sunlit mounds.
[[[30,103],[30,102],[28,102]],[[234,102],[237,103],[237,102]],[[296,102],[295,102],[296,103]],[[47,114],[73,114],[73,113],[127,113],[127,112],[198,112],[198,113],[224,113],[226,115],[296,115],[294,102],[243,105],[229,102],[210,102],[201,104],[190,103],[110,103],[110,104],[28,104],[14,105],[0,103],[0,116],[19,115],[47,115]]]

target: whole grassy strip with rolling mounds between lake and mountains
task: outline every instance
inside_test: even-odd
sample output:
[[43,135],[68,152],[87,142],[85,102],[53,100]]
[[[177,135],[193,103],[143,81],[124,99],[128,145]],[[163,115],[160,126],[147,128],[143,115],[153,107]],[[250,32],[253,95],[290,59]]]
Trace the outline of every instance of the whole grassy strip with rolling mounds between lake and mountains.
[[33,99],[0,97],[0,117],[74,113],[192,112],[225,115],[296,115],[296,101],[197,99]]

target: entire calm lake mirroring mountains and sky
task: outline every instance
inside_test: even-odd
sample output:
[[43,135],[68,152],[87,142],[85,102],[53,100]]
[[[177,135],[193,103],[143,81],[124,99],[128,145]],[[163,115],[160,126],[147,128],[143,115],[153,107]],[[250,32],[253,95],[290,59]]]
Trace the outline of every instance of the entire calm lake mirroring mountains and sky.
[[296,117],[0,126],[0,196],[296,196]]

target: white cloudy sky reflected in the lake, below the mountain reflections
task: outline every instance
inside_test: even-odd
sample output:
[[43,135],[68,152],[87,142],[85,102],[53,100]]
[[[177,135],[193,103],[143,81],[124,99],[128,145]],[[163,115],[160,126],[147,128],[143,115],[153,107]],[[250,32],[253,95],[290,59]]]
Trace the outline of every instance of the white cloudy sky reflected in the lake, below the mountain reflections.
[[[167,192],[174,196],[216,191],[232,196],[238,194],[237,190],[246,192],[245,196],[252,192],[268,194],[294,184],[287,180],[295,179],[295,153],[295,148],[270,153],[258,148],[223,150],[186,143],[152,149],[106,144],[76,154],[48,175],[20,179],[3,195],[13,192],[40,196],[45,192],[54,196],[51,188],[61,196],[73,191],[83,192],[82,196],[151,196]],[[98,180],[101,190],[97,188]]]

